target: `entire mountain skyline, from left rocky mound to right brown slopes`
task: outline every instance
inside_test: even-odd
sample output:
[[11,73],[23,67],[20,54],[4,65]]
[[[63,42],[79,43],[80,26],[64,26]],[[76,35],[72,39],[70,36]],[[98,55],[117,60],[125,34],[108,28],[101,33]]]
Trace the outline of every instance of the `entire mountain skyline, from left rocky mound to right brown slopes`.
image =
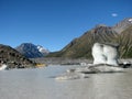
[[32,43],[22,43],[15,48],[0,44],[0,62],[10,64],[12,68],[18,65],[33,66],[35,63],[29,58],[37,57],[92,58],[91,47],[96,42],[118,44],[120,58],[132,58],[132,18],[113,26],[96,25],[58,52],[51,53]]

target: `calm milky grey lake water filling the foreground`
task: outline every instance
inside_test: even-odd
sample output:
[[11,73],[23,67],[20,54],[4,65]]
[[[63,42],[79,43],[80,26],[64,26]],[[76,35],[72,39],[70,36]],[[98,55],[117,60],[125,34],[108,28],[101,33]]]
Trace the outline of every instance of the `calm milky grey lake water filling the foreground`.
[[0,99],[132,99],[132,68],[124,73],[89,74],[56,80],[72,66],[0,72]]

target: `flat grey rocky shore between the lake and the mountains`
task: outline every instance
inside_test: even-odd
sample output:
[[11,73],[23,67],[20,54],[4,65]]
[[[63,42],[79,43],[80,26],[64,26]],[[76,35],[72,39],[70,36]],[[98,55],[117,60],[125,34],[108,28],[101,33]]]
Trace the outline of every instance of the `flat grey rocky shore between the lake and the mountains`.
[[[44,58],[31,58],[34,63],[41,63],[46,65],[81,65],[86,66],[92,64],[94,59],[88,58],[64,58],[64,57],[44,57]],[[132,64],[132,58],[128,59],[118,59],[120,66]]]

